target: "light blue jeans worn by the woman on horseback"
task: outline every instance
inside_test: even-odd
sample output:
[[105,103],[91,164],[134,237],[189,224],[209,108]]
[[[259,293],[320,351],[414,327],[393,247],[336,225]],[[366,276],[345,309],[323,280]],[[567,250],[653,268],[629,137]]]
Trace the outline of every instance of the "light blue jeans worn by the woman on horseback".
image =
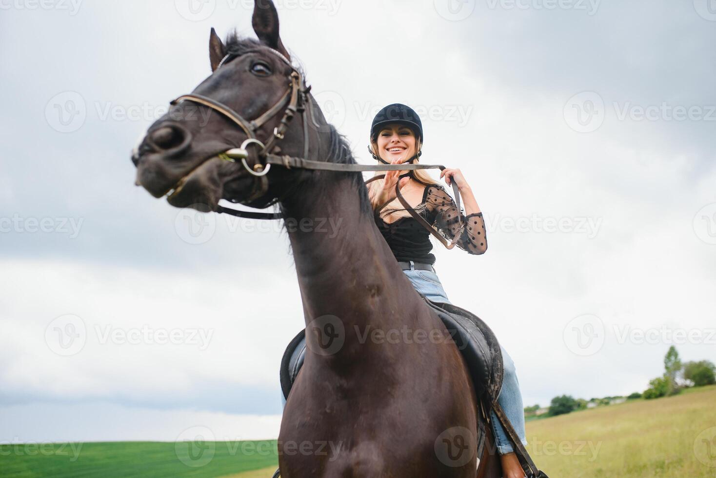
[[[410,270],[403,270],[403,272],[405,272],[405,275],[407,275],[408,280],[412,283],[412,286],[415,287],[415,290],[430,299],[430,301],[450,303],[447,294],[445,294],[445,290],[442,288],[440,279],[437,278],[437,274],[434,272],[430,270],[415,270],[412,268]],[[507,415],[517,435],[520,437],[522,444],[527,446],[527,440],[525,438],[525,412],[522,404],[522,394],[520,393],[520,383],[517,380],[515,363],[505,348],[500,346],[500,349],[502,350],[505,376],[502,382],[500,396],[498,397],[498,403],[505,411],[505,415]],[[491,415],[492,419],[490,421],[493,426],[493,431],[495,432],[498,453],[513,453],[515,450],[507,436],[507,432],[505,432],[502,424],[500,424],[494,411],[491,412]]]

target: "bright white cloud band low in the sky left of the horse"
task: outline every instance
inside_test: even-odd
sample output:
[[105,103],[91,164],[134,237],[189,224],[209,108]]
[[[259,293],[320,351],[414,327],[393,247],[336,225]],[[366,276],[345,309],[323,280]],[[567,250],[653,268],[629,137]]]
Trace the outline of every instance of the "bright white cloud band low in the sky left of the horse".
[[[0,319],[7,333],[0,338],[6,364],[0,381],[6,394],[139,402],[163,397],[171,403],[175,394],[197,394],[195,387],[213,383],[216,393],[221,384],[273,389],[280,403],[282,348],[303,326],[290,276],[254,270],[217,277],[30,260],[4,260],[1,267]],[[286,293],[282,301],[275,300],[276,287]],[[58,345],[69,341],[64,326],[46,339],[49,324],[66,314],[81,319],[72,331],[85,340],[71,356]]]

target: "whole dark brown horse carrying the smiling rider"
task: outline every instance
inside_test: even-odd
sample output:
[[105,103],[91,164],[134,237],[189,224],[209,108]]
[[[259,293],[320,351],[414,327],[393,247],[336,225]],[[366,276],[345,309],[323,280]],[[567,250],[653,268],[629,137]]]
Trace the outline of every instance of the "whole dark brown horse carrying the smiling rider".
[[[281,476],[500,477],[465,358],[380,235],[360,167],[291,64],[272,1],[255,1],[252,25],[258,40],[211,29],[211,75],[150,126],[132,161],[137,185],[176,208],[279,206],[309,348],[281,420]],[[319,227],[328,221],[337,230]]]

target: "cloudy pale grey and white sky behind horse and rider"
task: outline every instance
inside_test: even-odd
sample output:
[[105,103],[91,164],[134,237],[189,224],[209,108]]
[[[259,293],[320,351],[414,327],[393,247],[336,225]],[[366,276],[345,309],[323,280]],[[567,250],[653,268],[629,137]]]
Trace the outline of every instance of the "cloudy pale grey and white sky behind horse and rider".
[[[489,249],[435,245],[525,404],[716,361],[712,0],[282,0],[281,38],[368,164],[385,104],[463,171]],[[0,442],[275,438],[304,326],[278,223],[170,207],[130,150],[248,0],[0,0]],[[276,296],[281,296],[277,301]]]

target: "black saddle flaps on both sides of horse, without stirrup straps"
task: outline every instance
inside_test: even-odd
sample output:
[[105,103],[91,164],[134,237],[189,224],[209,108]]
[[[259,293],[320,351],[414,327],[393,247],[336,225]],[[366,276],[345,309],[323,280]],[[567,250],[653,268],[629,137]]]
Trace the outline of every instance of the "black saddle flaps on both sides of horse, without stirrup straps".
[[[490,327],[475,314],[449,303],[433,303],[425,299],[445,324],[455,345],[468,364],[478,398],[488,395],[497,399],[503,381],[503,363],[500,343]],[[306,357],[306,331],[299,332],[289,343],[281,359],[281,391],[289,398],[291,386]]]

